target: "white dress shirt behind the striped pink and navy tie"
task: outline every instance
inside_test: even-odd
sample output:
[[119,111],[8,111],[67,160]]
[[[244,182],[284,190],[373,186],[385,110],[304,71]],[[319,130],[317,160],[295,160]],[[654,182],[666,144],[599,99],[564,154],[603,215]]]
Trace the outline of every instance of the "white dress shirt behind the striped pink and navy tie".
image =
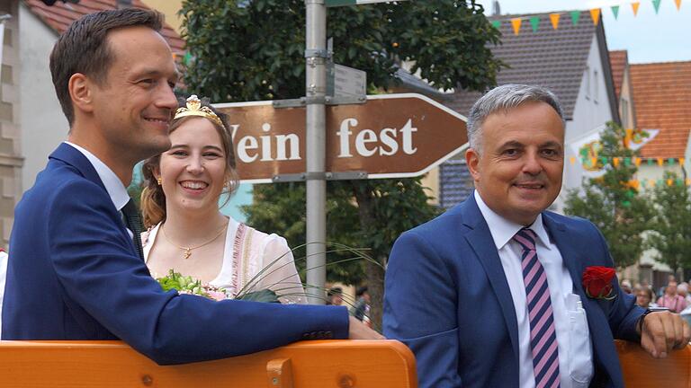
[[[516,310],[518,325],[518,370],[520,386],[533,388],[533,353],[530,348],[530,321],[528,306],[525,303],[525,284],[521,256],[523,248],[513,240],[514,235],[524,225],[519,225],[492,211],[474,191],[480,213],[489,225],[489,233],[497,246],[501,266],[507,277],[511,298]],[[529,228],[537,234],[535,250],[543,265],[547,284],[550,287],[550,300],[554,314],[554,329],[559,349],[559,372],[561,387],[587,387],[593,376],[592,348],[585,311],[580,308],[580,298],[572,294],[573,280],[569,269],[564,265],[561,252],[550,240],[544,229],[543,216],[539,215]]]

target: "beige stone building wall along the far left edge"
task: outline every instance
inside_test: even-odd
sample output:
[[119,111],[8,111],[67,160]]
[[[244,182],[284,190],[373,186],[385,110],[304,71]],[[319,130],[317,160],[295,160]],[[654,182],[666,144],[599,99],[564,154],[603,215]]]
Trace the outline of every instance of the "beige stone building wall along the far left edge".
[[0,244],[7,247],[14,219],[14,205],[22,193],[20,156],[20,40],[19,2],[0,2],[4,22],[2,70],[0,71]]

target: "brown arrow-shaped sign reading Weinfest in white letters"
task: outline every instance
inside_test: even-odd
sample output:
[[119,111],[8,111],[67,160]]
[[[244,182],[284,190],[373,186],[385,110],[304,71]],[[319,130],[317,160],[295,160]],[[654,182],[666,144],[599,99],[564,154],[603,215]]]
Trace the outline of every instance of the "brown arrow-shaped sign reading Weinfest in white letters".
[[[216,104],[229,115],[242,181],[305,172],[305,108],[272,101]],[[418,176],[467,143],[466,119],[417,93],[381,94],[327,107],[327,172],[368,178]]]

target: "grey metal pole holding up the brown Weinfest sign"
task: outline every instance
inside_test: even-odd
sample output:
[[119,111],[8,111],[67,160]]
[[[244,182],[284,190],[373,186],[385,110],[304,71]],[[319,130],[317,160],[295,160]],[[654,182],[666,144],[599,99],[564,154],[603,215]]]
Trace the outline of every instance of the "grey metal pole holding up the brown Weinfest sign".
[[324,304],[327,279],[326,91],[327,6],[324,0],[305,0],[307,8],[307,295],[310,304]]

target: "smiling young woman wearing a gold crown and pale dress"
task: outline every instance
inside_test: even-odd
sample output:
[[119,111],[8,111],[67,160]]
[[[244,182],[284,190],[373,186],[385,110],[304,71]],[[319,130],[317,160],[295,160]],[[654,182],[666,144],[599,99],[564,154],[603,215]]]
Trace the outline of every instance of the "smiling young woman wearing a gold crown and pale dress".
[[238,174],[225,115],[205,102],[188,98],[171,122],[171,148],[144,163],[142,245],[149,270],[157,278],[173,269],[229,297],[271,289],[283,303],[306,303],[285,239],[220,212],[220,196],[237,189]]

